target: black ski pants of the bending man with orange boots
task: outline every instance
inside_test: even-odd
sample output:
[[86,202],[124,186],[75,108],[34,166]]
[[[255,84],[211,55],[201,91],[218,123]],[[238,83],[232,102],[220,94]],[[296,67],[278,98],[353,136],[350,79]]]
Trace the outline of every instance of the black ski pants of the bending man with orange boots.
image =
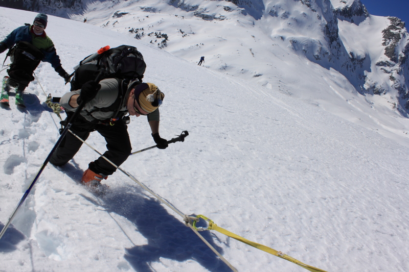
[[[84,141],[88,138],[90,132],[98,131],[106,141],[107,151],[103,156],[117,166],[120,166],[132,151],[128,129],[122,120],[118,120],[113,126],[92,123],[82,123],[79,126],[75,126],[74,122],[70,130]],[[68,132],[51,157],[50,163],[56,166],[64,165],[74,158],[81,145],[82,141],[75,137],[71,132]],[[102,157],[90,162],[88,168],[96,174],[106,176],[112,175],[117,169]]]

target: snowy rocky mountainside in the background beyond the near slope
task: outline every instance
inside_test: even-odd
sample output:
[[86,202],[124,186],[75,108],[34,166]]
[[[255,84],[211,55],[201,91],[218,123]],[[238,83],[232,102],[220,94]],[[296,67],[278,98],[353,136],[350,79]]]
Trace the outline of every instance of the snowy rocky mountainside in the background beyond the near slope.
[[[355,2],[359,1],[336,8]],[[262,7],[257,1],[245,3],[95,2],[71,18],[86,17],[87,24],[161,47],[192,64],[205,56],[206,68],[255,87],[280,89],[409,146],[409,120],[403,109],[407,69],[400,67],[403,64],[377,65],[388,60],[382,46],[387,18],[337,20],[327,0],[271,0],[263,1]],[[405,40],[399,46],[404,47]]]

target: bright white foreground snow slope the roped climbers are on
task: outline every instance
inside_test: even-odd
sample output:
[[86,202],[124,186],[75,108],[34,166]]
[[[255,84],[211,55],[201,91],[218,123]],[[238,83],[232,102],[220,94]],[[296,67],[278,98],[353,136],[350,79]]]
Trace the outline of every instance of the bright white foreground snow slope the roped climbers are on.
[[[0,8],[0,36],[34,16]],[[121,168],[178,210],[203,214],[327,271],[409,270],[409,150],[366,129],[372,114],[356,110],[358,126],[276,85],[226,76],[91,24],[49,16],[47,33],[68,72],[105,45],[135,45],[144,55],[144,80],[166,94],[161,136],[184,130],[189,136],[166,150],[132,155]],[[307,73],[296,59],[283,65],[297,75],[291,86],[322,78],[332,82],[334,96],[349,93],[338,73],[320,73],[311,63]],[[0,109],[2,224],[59,138],[59,119],[44,102],[69,86],[49,63],[35,74],[26,89],[27,110],[17,110],[13,96],[10,109]],[[303,91],[324,93],[327,86]],[[336,110],[351,110],[343,105]],[[134,151],[154,144],[144,117],[132,118],[129,132]],[[98,133],[87,142],[105,151]],[[0,240],[0,271],[230,271],[179,215],[120,171],[106,180],[110,189],[103,197],[79,185],[97,157],[84,145],[67,165],[44,169]],[[202,235],[239,271],[306,271],[220,233]]]

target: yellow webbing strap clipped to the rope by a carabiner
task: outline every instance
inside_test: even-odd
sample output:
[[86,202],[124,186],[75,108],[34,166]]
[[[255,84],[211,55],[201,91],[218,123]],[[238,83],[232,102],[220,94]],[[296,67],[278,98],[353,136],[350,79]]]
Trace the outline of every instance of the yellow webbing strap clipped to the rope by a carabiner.
[[205,219],[205,220],[207,220],[207,221],[209,222],[209,227],[208,227],[208,228],[196,228],[196,221],[194,221],[194,222],[193,222],[193,227],[196,228],[196,229],[199,230],[199,231],[200,231],[200,230],[214,230],[214,231],[218,231],[218,232],[220,232],[220,233],[222,233],[222,234],[224,234],[224,235],[226,235],[226,236],[232,237],[233,239],[236,239],[236,240],[238,240],[238,241],[240,241],[240,242],[243,242],[243,243],[246,243],[246,244],[248,244],[248,245],[251,245],[251,246],[253,246],[253,247],[256,248],[256,249],[259,249],[259,250],[262,250],[262,251],[267,252],[267,253],[269,253],[269,254],[272,254],[272,255],[274,255],[274,256],[280,257],[280,258],[282,258],[282,259],[284,259],[284,260],[293,262],[293,263],[295,263],[295,264],[297,264],[297,265],[299,265],[299,266],[301,266],[301,267],[303,267],[303,268],[305,268],[305,269],[307,269],[307,270],[309,270],[309,271],[311,271],[311,272],[327,272],[327,271],[322,270],[322,269],[320,269],[320,268],[316,268],[316,267],[310,266],[310,265],[308,265],[308,264],[302,263],[302,262],[300,262],[299,260],[296,260],[296,259],[294,259],[294,258],[292,258],[292,257],[290,257],[290,256],[288,256],[288,255],[285,255],[285,254],[282,253],[282,252],[279,252],[279,251],[276,251],[276,250],[274,250],[274,249],[268,248],[268,246],[265,246],[265,245],[262,245],[262,244],[259,244],[259,243],[255,243],[255,242],[252,242],[252,241],[249,241],[249,240],[247,240],[247,239],[245,239],[245,238],[243,238],[243,237],[240,237],[240,236],[238,236],[238,235],[236,235],[236,234],[234,234],[234,233],[232,233],[232,232],[230,232],[230,231],[228,231],[228,230],[225,230],[225,229],[223,229],[223,228],[220,228],[219,226],[217,226],[212,220],[210,220],[210,219],[207,218],[206,216],[197,215],[196,217],[197,217],[197,218],[203,218],[203,219]]

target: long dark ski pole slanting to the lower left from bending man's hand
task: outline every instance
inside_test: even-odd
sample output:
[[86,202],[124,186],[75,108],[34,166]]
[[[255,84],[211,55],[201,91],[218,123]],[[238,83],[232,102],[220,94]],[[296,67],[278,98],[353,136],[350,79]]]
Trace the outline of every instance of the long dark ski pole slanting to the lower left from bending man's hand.
[[[104,74],[105,74],[105,69],[102,69],[101,72],[98,74],[95,81],[99,82],[103,78]],[[46,160],[41,165],[40,170],[38,170],[37,175],[34,177],[33,181],[30,184],[30,186],[27,188],[26,192],[21,197],[20,202],[17,204],[17,207],[14,209],[13,213],[10,215],[10,218],[7,220],[6,225],[4,225],[2,232],[0,232],[0,239],[2,239],[4,233],[6,232],[8,227],[10,226],[11,221],[13,220],[16,212],[21,207],[21,205],[24,203],[24,201],[27,199],[27,196],[29,195],[29,193],[30,193],[31,189],[33,188],[34,184],[36,183],[36,181],[40,177],[40,175],[41,175],[42,171],[44,170],[44,168],[46,168],[48,162],[51,159],[51,156],[53,156],[54,152],[57,150],[58,146],[62,142],[62,139],[65,137],[65,134],[67,134],[67,132],[70,130],[71,126],[73,125],[73,121],[77,118],[77,116],[79,115],[79,113],[82,110],[82,108],[84,107],[84,105],[85,105],[85,102],[82,101],[81,104],[78,106],[78,108],[75,110],[74,114],[71,116],[71,118],[70,118],[69,122],[67,123],[67,125],[65,126],[64,130],[61,132],[60,138],[57,140],[57,142],[55,143],[55,145],[54,145],[53,149],[51,150],[50,154],[47,156]]]

